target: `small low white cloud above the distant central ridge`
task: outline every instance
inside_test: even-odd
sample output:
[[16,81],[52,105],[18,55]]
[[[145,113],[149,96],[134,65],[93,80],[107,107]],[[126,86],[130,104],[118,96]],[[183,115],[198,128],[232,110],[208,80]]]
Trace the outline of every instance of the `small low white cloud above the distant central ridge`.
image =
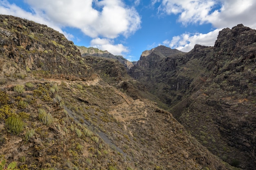
[[129,52],[128,48],[123,44],[114,44],[114,40],[107,38],[95,38],[90,42],[90,46],[98,48],[100,50],[107,50],[113,55],[124,55],[124,53]]

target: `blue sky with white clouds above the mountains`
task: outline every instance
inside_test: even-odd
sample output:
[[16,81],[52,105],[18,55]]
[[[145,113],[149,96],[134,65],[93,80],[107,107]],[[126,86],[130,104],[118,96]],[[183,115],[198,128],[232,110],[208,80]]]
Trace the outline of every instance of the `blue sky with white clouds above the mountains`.
[[33,20],[74,44],[137,61],[159,45],[189,52],[219,31],[256,29],[256,0],[0,0],[0,14]]

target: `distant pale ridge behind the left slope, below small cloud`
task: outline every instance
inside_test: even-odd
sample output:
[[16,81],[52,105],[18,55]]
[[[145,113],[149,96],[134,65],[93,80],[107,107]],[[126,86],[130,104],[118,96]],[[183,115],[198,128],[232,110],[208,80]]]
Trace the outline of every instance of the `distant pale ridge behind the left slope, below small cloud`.
[[133,66],[132,62],[126,60],[121,55],[113,55],[108,51],[102,51],[94,47],[89,47],[89,48],[85,46],[76,46],[76,47],[80,50],[82,57],[89,55],[89,56],[112,58],[112,59],[117,59],[120,63],[124,64],[124,66],[128,69],[130,69]]

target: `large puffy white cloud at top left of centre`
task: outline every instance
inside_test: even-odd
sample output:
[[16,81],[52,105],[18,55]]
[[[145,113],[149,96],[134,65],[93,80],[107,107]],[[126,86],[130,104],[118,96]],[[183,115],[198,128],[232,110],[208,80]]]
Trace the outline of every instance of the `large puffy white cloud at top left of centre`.
[[[128,37],[140,28],[141,19],[134,8],[126,7],[121,0],[26,0],[39,15],[61,26],[81,29],[92,38],[99,36]],[[99,10],[93,8],[93,3]]]

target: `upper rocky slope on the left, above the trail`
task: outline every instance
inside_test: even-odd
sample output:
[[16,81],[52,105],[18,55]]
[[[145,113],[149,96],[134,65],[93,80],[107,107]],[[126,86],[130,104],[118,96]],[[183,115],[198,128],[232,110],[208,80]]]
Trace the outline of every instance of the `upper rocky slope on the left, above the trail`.
[[1,23],[0,53],[18,65],[31,71],[90,76],[90,67],[78,64],[81,53],[63,34],[13,16],[1,15]]

